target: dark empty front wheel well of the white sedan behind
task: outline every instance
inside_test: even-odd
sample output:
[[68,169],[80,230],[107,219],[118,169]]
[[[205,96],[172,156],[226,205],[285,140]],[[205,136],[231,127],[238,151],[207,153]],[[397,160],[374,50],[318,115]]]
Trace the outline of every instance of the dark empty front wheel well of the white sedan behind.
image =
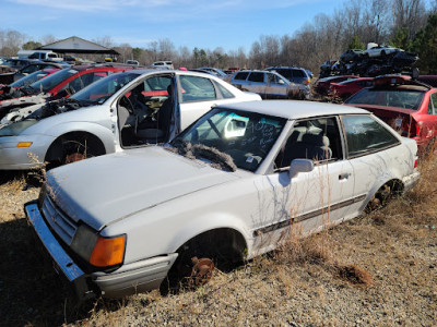
[[50,147],[47,150],[45,161],[60,160],[62,158],[63,156],[62,142],[66,140],[76,141],[79,143],[83,142],[83,140],[86,140],[88,145],[93,147],[93,149],[95,149],[96,155],[101,156],[106,154],[105,145],[103,144],[101,138],[98,138],[94,134],[82,131],[69,132],[58,136],[58,138],[56,138],[51,143]]

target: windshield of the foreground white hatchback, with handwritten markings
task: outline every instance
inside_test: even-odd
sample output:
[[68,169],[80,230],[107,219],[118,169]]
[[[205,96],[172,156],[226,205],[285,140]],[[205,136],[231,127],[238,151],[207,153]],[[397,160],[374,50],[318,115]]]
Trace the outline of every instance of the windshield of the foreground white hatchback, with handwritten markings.
[[[217,108],[179,134],[172,145],[186,149],[198,145],[212,148],[215,154],[231,156],[236,167],[256,171],[285,123],[284,118]],[[214,156],[201,157],[213,161]]]

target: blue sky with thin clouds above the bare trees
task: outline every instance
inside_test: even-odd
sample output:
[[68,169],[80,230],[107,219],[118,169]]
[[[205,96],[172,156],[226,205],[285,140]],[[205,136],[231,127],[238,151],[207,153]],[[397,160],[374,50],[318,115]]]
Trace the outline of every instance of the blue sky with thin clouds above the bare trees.
[[33,40],[109,36],[114,44],[147,47],[168,38],[187,46],[249,51],[261,35],[293,35],[315,15],[331,15],[343,0],[0,0],[0,29]]

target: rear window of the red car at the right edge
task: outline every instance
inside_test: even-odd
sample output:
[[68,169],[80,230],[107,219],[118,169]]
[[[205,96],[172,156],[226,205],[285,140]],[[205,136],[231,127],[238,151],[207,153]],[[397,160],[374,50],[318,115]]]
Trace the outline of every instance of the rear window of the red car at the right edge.
[[349,98],[345,104],[374,105],[417,110],[422,104],[424,95],[424,92],[413,89],[364,88],[359,93]]

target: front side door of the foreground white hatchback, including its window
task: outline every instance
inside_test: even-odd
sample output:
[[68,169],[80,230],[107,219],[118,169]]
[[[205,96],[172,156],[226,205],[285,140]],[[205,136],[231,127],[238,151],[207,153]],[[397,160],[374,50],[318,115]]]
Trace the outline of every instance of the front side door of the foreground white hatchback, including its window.
[[[256,181],[263,204],[253,218],[256,249],[268,251],[291,231],[307,234],[351,217],[355,175],[343,156],[339,126],[336,117],[294,124],[275,158],[275,171]],[[315,167],[291,177],[295,159],[314,160]]]

